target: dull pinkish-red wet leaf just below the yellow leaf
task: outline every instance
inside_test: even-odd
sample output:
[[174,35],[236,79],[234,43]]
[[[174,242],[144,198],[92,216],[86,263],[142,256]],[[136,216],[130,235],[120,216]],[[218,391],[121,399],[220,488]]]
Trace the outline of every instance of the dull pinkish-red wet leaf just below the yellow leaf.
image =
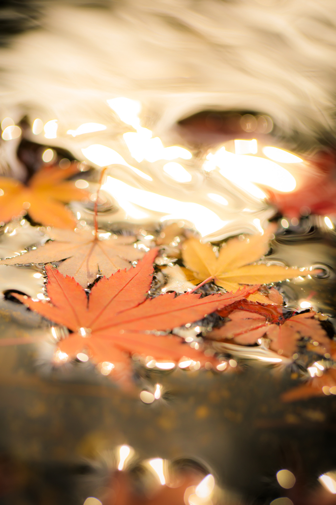
[[307,312],[292,316],[281,325],[270,324],[262,314],[236,310],[229,314],[230,321],[221,328],[209,333],[208,338],[214,340],[233,339],[240,345],[256,343],[266,336],[271,340],[270,348],[279,354],[291,358],[297,349],[297,343],[302,338],[312,338],[320,344],[316,352],[324,354],[330,350],[330,339],[314,318],[315,312]]

